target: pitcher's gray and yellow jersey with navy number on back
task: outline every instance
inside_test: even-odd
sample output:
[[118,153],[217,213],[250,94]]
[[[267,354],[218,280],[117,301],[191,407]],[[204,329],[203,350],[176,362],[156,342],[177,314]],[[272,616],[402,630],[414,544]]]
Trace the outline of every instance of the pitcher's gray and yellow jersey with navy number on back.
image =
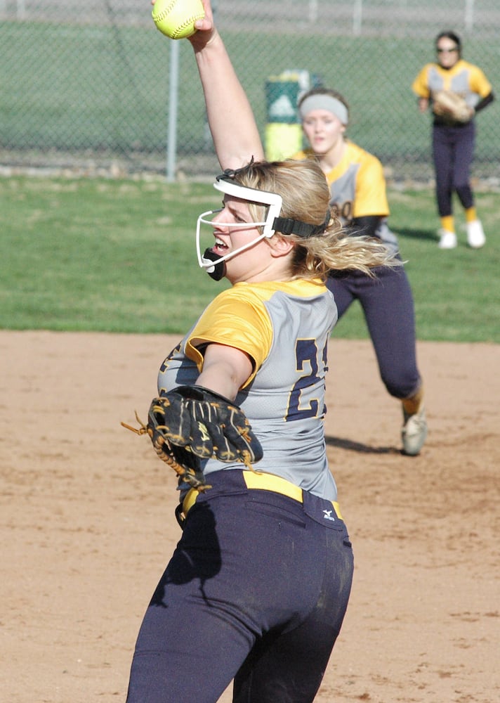
[[[324,441],[327,344],[337,319],[333,295],[319,281],[237,283],[221,292],[167,356],[159,370],[161,395],[192,385],[207,344],[246,352],[254,362],[235,403],[263,446],[256,469],[336,500]],[[202,462],[205,475],[241,469],[239,463]]]

